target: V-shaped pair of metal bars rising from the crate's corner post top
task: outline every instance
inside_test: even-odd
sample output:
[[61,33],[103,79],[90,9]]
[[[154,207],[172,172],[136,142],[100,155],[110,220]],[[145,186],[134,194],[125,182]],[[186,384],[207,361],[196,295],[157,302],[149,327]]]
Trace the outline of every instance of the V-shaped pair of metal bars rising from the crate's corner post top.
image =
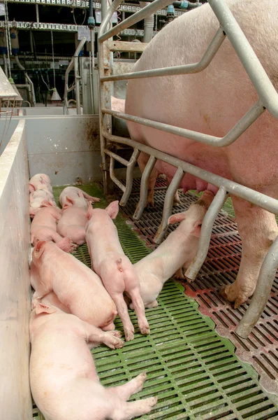
[[[116,4],[114,4],[116,3]],[[112,6],[108,9],[108,13],[110,15],[110,10],[114,11],[117,9],[119,4],[122,3],[122,0],[114,0],[112,3]],[[140,20],[143,20],[147,18],[147,16],[152,15],[152,13],[155,13],[156,10],[159,10],[159,8],[164,8],[168,6],[169,4],[173,3],[171,0],[155,0],[153,3],[150,3],[149,6],[146,6],[142,8],[141,10],[138,10],[138,12],[134,13],[134,15],[131,15],[126,20],[123,20],[118,25],[110,29],[110,31],[107,31],[103,33],[103,31],[99,32],[98,41],[103,42],[108,38],[111,38],[114,35],[119,34],[120,31],[131,27],[132,25],[135,25],[137,22],[140,22]],[[112,16],[112,14],[111,14]],[[108,19],[109,22],[110,18]],[[105,22],[105,25],[103,25],[103,28],[106,27],[108,22]]]

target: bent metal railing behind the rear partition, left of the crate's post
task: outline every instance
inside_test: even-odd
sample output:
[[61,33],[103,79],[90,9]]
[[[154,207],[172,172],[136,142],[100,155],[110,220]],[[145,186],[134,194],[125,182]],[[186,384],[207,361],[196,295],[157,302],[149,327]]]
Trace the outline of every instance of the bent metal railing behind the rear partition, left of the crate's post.
[[[75,90],[75,101],[76,101],[76,113],[78,116],[81,113],[80,109],[80,71],[79,71],[79,62],[78,57],[80,51],[82,50],[83,46],[85,45],[86,38],[83,36],[80,43],[78,44],[78,48],[76,48],[75,53],[71,59],[71,62],[68,64],[68,68],[66,69],[65,73],[65,91],[64,91],[64,114],[68,114],[68,93],[72,90]],[[74,84],[71,87],[68,87],[68,75],[71,70],[74,69]]]

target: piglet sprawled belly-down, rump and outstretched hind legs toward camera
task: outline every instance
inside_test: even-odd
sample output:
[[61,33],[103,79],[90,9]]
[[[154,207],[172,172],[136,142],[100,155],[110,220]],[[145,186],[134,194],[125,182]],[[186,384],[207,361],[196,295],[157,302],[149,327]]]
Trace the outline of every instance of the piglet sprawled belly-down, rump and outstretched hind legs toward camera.
[[129,258],[124,255],[117,228],[112,222],[119,211],[118,203],[118,201],[110,203],[105,210],[89,207],[86,241],[92,269],[101,277],[106,290],[114,300],[124,326],[126,341],[130,341],[134,338],[134,328],[124,301],[124,291],[131,297],[142,334],[149,334],[149,324],[140,296],[138,276]]

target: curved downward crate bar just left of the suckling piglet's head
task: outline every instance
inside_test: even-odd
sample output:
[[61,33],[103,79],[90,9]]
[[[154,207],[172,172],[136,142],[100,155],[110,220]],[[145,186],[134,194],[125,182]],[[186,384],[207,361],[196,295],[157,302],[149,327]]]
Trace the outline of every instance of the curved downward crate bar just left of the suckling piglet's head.
[[180,187],[180,183],[182,182],[183,177],[184,171],[181,167],[178,167],[165,195],[162,220],[154,237],[154,244],[160,244],[166,233],[168,227],[168,218],[172,214],[174,195],[177,191],[177,188]]

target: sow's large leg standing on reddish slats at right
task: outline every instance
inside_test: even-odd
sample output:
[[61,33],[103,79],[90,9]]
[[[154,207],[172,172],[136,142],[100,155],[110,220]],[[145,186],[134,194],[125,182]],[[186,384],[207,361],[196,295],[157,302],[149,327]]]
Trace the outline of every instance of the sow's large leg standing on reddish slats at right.
[[235,308],[246,302],[256,288],[258,274],[272,242],[278,235],[275,215],[245,200],[232,197],[237,230],[242,239],[242,259],[237,279],[221,291]]

